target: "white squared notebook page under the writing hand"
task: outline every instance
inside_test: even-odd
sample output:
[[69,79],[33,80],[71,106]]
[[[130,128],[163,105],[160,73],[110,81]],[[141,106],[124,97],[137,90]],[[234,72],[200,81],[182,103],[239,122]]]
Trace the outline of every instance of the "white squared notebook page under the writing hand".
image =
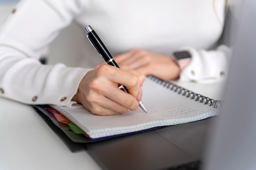
[[218,108],[178,94],[149,77],[146,78],[142,88],[142,102],[148,113],[138,108],[135,111],[128,110],[124,114],[99,116],[93,115],[85,108],[52,107],[79,126],[91,138],[197,121],[215,116],[219,112]]

